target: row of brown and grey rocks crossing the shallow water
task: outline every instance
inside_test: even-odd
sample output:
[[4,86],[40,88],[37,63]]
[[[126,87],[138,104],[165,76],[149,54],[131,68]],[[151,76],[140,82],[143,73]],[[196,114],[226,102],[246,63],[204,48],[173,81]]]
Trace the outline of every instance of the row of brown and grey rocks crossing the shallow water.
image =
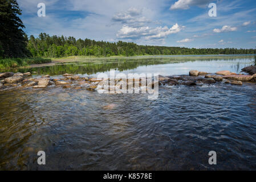
[[[94,91],[101,79],[93,77],[81,77],[78,75],[72,75],[65,73],[59,77],[50,77],[49,75],[43,75],[38,77],[32,77],[30,72],[27,73],[12,73],[5,72],[0,73],[0,90],[12,89],[12,88],[46,88],[47,86],[59,86],[64,89],[87,89]],[[115,80],[115,85],[120,80]],[[141,86],[141,78],[134,79],[134,82],[139,82]],[[256,74],[254,75],[242,75],[231,73],[230,71],[220,71],[216,73],[200,72],[191,70],[189,75],[179,76],[159,76],[159,85],[203,85],[203,84],[215,84],[217,82],[224,82],[225,84],[242,85],[244,81],[256,82]],[[128,81],[127,81],[128,83]],[[153,84],[152,84],[153,86]],[[128,89],[128,84],[127,84]]]

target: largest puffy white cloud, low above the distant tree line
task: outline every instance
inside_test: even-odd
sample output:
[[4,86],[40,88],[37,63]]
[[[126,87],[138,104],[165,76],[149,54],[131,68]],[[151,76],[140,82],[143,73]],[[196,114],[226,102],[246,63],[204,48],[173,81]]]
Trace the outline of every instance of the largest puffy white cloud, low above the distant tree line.
[[179,26],[177,23],[171,28],[165,27],[129,27],[124,25],[116,34],[117,38],[120,39],[139,39],[145,38],[145,40],[161,39],[163,40],[169,34],[175,34],[180,32],[184,28]]

